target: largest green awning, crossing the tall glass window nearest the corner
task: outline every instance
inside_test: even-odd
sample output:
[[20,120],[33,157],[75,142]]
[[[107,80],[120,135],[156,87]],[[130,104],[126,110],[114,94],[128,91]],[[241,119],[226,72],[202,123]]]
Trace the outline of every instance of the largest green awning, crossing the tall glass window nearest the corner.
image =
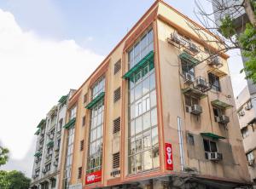
[[134,73],[143,68],[150,62],[150,67],[154,66],[154,51],[150,51],[142,60],[140,60],[135,66],[133,66],[128,72],[125,73],[123,78],[130,80]]

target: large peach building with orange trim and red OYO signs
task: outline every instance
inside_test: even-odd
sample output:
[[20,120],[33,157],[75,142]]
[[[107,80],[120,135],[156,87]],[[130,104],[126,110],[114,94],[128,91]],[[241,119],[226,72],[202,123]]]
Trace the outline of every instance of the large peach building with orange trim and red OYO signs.
[[247,186],[229,56],[202,61],[216,39],[155,1],[69,99],[58,188]]

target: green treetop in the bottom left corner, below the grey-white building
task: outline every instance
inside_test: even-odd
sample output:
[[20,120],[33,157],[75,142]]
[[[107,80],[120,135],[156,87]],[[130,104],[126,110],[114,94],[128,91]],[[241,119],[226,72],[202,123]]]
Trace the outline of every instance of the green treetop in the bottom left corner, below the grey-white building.
[[27,189],[29,188],[30,182],[31,180],[20,171],[0,171],[1,189]]

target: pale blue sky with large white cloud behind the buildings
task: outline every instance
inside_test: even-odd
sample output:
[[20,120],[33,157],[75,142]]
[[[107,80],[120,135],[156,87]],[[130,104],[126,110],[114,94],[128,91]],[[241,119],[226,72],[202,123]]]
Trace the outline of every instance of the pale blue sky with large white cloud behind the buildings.
[[[152,3],[0,0],[0,145],[10,150],[10,161],[1,169],[32,175],[34,132],[40,120],[61,95],[79,88]],[[166,3],[196,20],[193,0]],[[237,95],[246,81],[239,73],[239,52],[230,54]]]

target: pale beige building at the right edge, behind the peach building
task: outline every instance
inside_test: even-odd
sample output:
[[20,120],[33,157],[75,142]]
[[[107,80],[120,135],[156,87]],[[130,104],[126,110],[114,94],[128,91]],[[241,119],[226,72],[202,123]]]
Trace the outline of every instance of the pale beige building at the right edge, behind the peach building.
[[236,97],[237,114],[239,117],[243,146],[247,155],[247,163],[251,179],[256,186],[256,99],[252,98],[248,87]]

